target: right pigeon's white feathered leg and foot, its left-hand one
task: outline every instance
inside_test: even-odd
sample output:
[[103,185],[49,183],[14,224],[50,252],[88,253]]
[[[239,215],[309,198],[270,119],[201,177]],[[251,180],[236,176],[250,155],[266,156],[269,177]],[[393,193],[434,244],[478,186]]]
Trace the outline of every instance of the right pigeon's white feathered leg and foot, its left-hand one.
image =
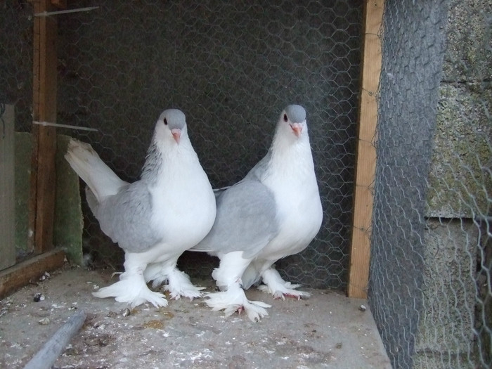
[[268,315],[265,308],[271,307],[261,301],[249,301],[242,290],[241,276],[251,259],[242,259],[242,252],[230,252],[221,257],[219,268],[215,268],[212,277],[221,292],[207,294],[207,305],[214,311],[224,310],[226,316],[235,311],[244,310],[252,321]]

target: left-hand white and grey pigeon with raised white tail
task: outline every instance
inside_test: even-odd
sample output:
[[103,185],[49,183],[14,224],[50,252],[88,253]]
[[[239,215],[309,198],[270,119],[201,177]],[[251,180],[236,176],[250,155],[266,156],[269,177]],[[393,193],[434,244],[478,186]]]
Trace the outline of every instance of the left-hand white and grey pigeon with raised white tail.
[[134,183],[119,179],[87,143],[71,140],[65,158],[87,184],[87,202],[101,229],[125,252],[119,281],[93,295],[131,306],[167,306],[164,294],[145,283],[167,280],[171,298],[200,297],[202,288],[176,268],[176,261],[209,233],[216,203],[183,112],[164,110],[157,119],[141,179]]

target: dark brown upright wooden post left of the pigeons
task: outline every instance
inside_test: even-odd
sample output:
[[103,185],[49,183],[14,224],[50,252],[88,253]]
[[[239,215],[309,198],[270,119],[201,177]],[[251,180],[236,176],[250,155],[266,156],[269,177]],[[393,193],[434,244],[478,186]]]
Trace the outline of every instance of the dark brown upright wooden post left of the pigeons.
[[[34,13],[51,11],[50,1],[34,2]],[[34,18],[33,116],[56,122],[56,17]],[[53,248],[55,214],[56,129],[32,126],[29,249],[37,254]]]

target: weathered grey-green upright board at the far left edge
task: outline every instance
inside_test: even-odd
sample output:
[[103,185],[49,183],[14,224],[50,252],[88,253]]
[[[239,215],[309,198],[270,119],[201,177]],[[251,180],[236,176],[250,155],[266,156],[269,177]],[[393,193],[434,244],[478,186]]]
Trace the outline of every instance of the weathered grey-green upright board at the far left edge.
[[15,264],[14,108],[0,105],[0,270]]

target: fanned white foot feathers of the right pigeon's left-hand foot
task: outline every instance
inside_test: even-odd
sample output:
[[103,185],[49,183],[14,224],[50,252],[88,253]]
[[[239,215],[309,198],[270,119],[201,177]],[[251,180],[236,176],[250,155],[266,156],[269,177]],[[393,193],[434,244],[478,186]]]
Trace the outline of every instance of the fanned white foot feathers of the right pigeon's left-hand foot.
[[228,290],[221,292],[212,292],[206,295],[208,297],[205,303],[214,311],[224,310],[226,316],[231,316],[238,311],[245,311],[251,321],[257,322],[264,316],[268,315],[266,308],[271,305],[261,301],[250,301],[247,299],[245,291],[242,290],[239,283],[233,283]]

